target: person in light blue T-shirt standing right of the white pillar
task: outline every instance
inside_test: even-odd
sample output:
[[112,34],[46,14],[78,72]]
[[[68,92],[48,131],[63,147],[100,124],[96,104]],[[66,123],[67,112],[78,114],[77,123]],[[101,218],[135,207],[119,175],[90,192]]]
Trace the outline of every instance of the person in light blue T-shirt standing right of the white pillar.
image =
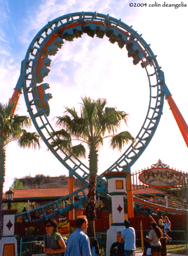
[[124,221],[125,229],[122,231],[122,242],[124,240],[124,256],[133,256],[135,246],[135,229],[130,227],[130,222]]

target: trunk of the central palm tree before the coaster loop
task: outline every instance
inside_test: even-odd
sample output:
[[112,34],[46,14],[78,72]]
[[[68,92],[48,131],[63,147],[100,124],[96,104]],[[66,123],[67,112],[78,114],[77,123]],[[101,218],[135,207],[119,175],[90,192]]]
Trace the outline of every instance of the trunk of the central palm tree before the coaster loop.
[[98,168],[98,154],[95,147],[90,148],[89,153],[89,193],[86,206],[86,216],[88,219],[87,233],[89,237],[95,237],[95,218],[96,218],[96,184],[97,184],[97,168]]

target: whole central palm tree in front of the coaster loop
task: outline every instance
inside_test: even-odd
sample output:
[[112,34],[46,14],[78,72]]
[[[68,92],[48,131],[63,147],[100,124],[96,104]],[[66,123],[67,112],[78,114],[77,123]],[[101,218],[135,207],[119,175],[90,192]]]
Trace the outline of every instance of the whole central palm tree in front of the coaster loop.
[[[106,105],[106,99],[97,99],[97,101],[94,101],[91,100],[91,98],[82,98],[80,116],[75,108],[65,107],[65,115],[62,117],[58,116],[56,122],[56,126],[61,129],[52,133],[52,135],[57,135],[57,139],[54,139],[51,146],[53,148],[60,146],[66,154],[71,157],[85,158],[86,149],[84,145],[86,144],[89,148],[88,160],[90,177],[86,206],[86,215],[89,222],[89,237],[95,237],[94,220],[98,150],[103,146],[104,138],[110,137],[110,147],[112,149],[118,148],[119,150],[130,140],[135,140],[127,131],[117,134],[121,121],[127,124],[128,114],[123,111],[117,111],[116,108],[108,108]],[[73,141],[80,141],[80,144],[72,146]]]

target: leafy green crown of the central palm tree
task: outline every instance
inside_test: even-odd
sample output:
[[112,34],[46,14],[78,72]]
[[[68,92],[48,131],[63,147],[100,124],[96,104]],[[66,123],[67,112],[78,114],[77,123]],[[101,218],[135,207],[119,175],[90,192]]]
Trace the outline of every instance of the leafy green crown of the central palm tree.
[[[103,138],[106,132],[113,134],[112,148],[120,147],[119,149],[121,150],[129,140],[134,140],[131,135],[125,135],[125,132],[114,135],[117,134],[121,121],[127,123],[128,114],[124,111],[117,111],[117,108],[106,107],[107,101],[104,98],[98,98],[97,101],[94,101],[90,97],[85,96],[82,97],[80,104],[80,116],[75,108],[65,107],[66,115],[58,116],[56,122],[56,125],[63,129],[52,133],[52,135],[59,136],[60,140],[75,139],[86,142],[89,147],[95,145],[97,149],[103,146]],[[65,136],[66,134],[69,134],[70,137]],[[60,146],[60,140],[52,141],[52,146]],[[65,146],[65,148],[68,147]]]

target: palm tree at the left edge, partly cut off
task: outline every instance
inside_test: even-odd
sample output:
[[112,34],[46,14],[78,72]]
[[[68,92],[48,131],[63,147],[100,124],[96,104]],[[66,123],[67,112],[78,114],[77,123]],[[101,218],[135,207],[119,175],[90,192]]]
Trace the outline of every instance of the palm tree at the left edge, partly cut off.
[[31,126],[28,116],[12,114],[13,103],[0,103],[0,237],[2,236],[2,195],[5,181],[6,146],[17,141],[21,148],[40,148],[39,135],[35,132],[26,132],[24,128]]

